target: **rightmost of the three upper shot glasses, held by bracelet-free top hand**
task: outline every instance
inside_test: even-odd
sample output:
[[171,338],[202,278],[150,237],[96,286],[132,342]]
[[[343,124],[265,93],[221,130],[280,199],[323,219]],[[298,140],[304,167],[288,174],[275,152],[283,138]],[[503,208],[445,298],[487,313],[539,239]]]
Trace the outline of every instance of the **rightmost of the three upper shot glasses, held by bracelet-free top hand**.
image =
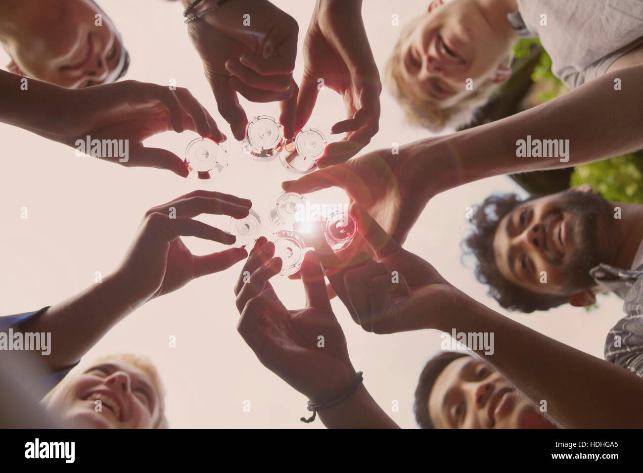
[[323,155],[326,138],[321,131],[304,128],[285,142],[279,153],[279,160],[294,174],[308,174],[317,167],[317,160]]

